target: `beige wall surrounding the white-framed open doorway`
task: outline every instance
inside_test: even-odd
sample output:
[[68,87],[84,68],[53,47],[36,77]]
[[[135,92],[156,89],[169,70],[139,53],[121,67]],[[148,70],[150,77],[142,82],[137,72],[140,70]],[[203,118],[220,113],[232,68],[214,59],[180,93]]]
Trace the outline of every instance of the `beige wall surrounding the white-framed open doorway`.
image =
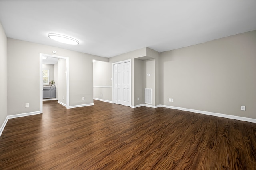
[[[40,53],[52,54],[54,50],[56,55],[69,58],[70,106],[93,103],[92,60],[108,58],[16,39],[7,41],[8,115],[40,111]],[[25,103],[29,107],[25,108]]]

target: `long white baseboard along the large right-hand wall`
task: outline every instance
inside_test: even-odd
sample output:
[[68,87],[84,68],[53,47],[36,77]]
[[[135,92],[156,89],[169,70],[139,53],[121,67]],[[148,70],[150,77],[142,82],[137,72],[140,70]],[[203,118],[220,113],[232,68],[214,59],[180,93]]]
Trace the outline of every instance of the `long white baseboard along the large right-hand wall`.
[[182,107],[174,107],[174,106],[166,106],[166,105],[160,105],[160,107],[165,107],[165,108],[169,108],[169,109],[183,110],[183,111],[190,111],[190,112],[200,113],[200,114],[204,114],[204,115],[211,115],[211,116],[224,117],[224,118],[228,118],[228,119],[235,119],[235,120],[241,120],[241,121],[248,121],[248,122],[256,123],[256,119],[252,119],[252,118],[248,118],[248,117],[226,115],[226,114],[221,114],[221,113],[214,113],[214,112],[194,110],[194,109],[186,109],[186,108],[182,108]]

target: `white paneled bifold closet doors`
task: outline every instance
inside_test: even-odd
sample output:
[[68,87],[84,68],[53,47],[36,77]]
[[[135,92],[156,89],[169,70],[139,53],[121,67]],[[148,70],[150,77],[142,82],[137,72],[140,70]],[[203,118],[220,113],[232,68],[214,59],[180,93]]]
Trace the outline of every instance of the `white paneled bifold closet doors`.
[[130,106],[130,62],[114,65],[114,103]]

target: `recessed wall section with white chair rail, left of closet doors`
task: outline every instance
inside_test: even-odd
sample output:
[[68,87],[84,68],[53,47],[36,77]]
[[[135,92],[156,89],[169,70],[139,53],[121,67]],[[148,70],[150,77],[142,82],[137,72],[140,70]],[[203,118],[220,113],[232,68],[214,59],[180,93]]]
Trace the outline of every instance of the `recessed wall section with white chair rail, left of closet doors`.
[[[112,86],[112,63],[95,61],[93,63],[93,85]],[[102,96],[101,96],[102,94]],[[94,87],[93,97],[112,102],[112,88]]]

